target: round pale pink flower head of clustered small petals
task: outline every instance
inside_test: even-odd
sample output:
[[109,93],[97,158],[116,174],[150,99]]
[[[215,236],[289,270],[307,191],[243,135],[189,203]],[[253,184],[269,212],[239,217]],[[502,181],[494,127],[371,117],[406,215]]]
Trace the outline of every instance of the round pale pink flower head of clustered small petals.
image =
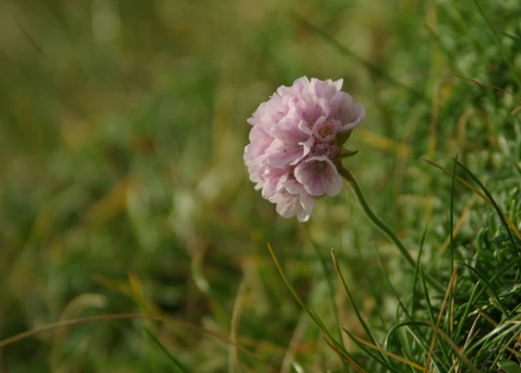
[[352,154],[343,143],[365,116],[363,105],[340,91],[342,83],[302,77],[278,88],[248,119],[249,179],[285,218],[307,221],[315,199],[342,189],[336,163]]

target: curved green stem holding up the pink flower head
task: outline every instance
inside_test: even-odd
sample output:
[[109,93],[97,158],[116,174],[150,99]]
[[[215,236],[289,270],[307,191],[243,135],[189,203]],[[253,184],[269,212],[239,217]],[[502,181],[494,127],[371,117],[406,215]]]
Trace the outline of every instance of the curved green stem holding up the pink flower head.
[[[360,185],[358,185],[358,182],[354,178],[353,174],[351,174],[351,172],[347,171],[341,165],[338,165],[337,169],[338,173],[342,175],[342,177],[345,179],[345,181],[347,181],[347,183],[349,183],[349,185],[351,185],[354,194],[356,194],[356,198],[358,198],[358,202],[360,202],[360,205],[362,206],[362,209],[364,210],[369,220],[371,220],[371,222],[374,225],[376,225],[376,228],[381,230],[387,236],[387,238],[389,238],[396,245],[396,248],[400,250],[400,253],[404,256],[407,263],[409,263],[412,268],[415,268],[416,262],[414,261],[414,259],[412,259],[411,254],[409,254],[402,241],[398,239],[398,236],[396,236],[396,233],[394,233],[393,230],[391,230],[389,225],[384,223],[378,216],[376,216],[376,214],[373,212],[373,210],[371,210],[371,208],[367,204],[365,196],[362,193],[362,190],[360,189]],[[445,288],[443,288],[443,286],[440,285],[440,283],[433,279],[433,277],[429,274],[425,274],[425,279],[430,285],[433,286],[433,288],[436,288],[436,290],[440,292],[445,292]]]

